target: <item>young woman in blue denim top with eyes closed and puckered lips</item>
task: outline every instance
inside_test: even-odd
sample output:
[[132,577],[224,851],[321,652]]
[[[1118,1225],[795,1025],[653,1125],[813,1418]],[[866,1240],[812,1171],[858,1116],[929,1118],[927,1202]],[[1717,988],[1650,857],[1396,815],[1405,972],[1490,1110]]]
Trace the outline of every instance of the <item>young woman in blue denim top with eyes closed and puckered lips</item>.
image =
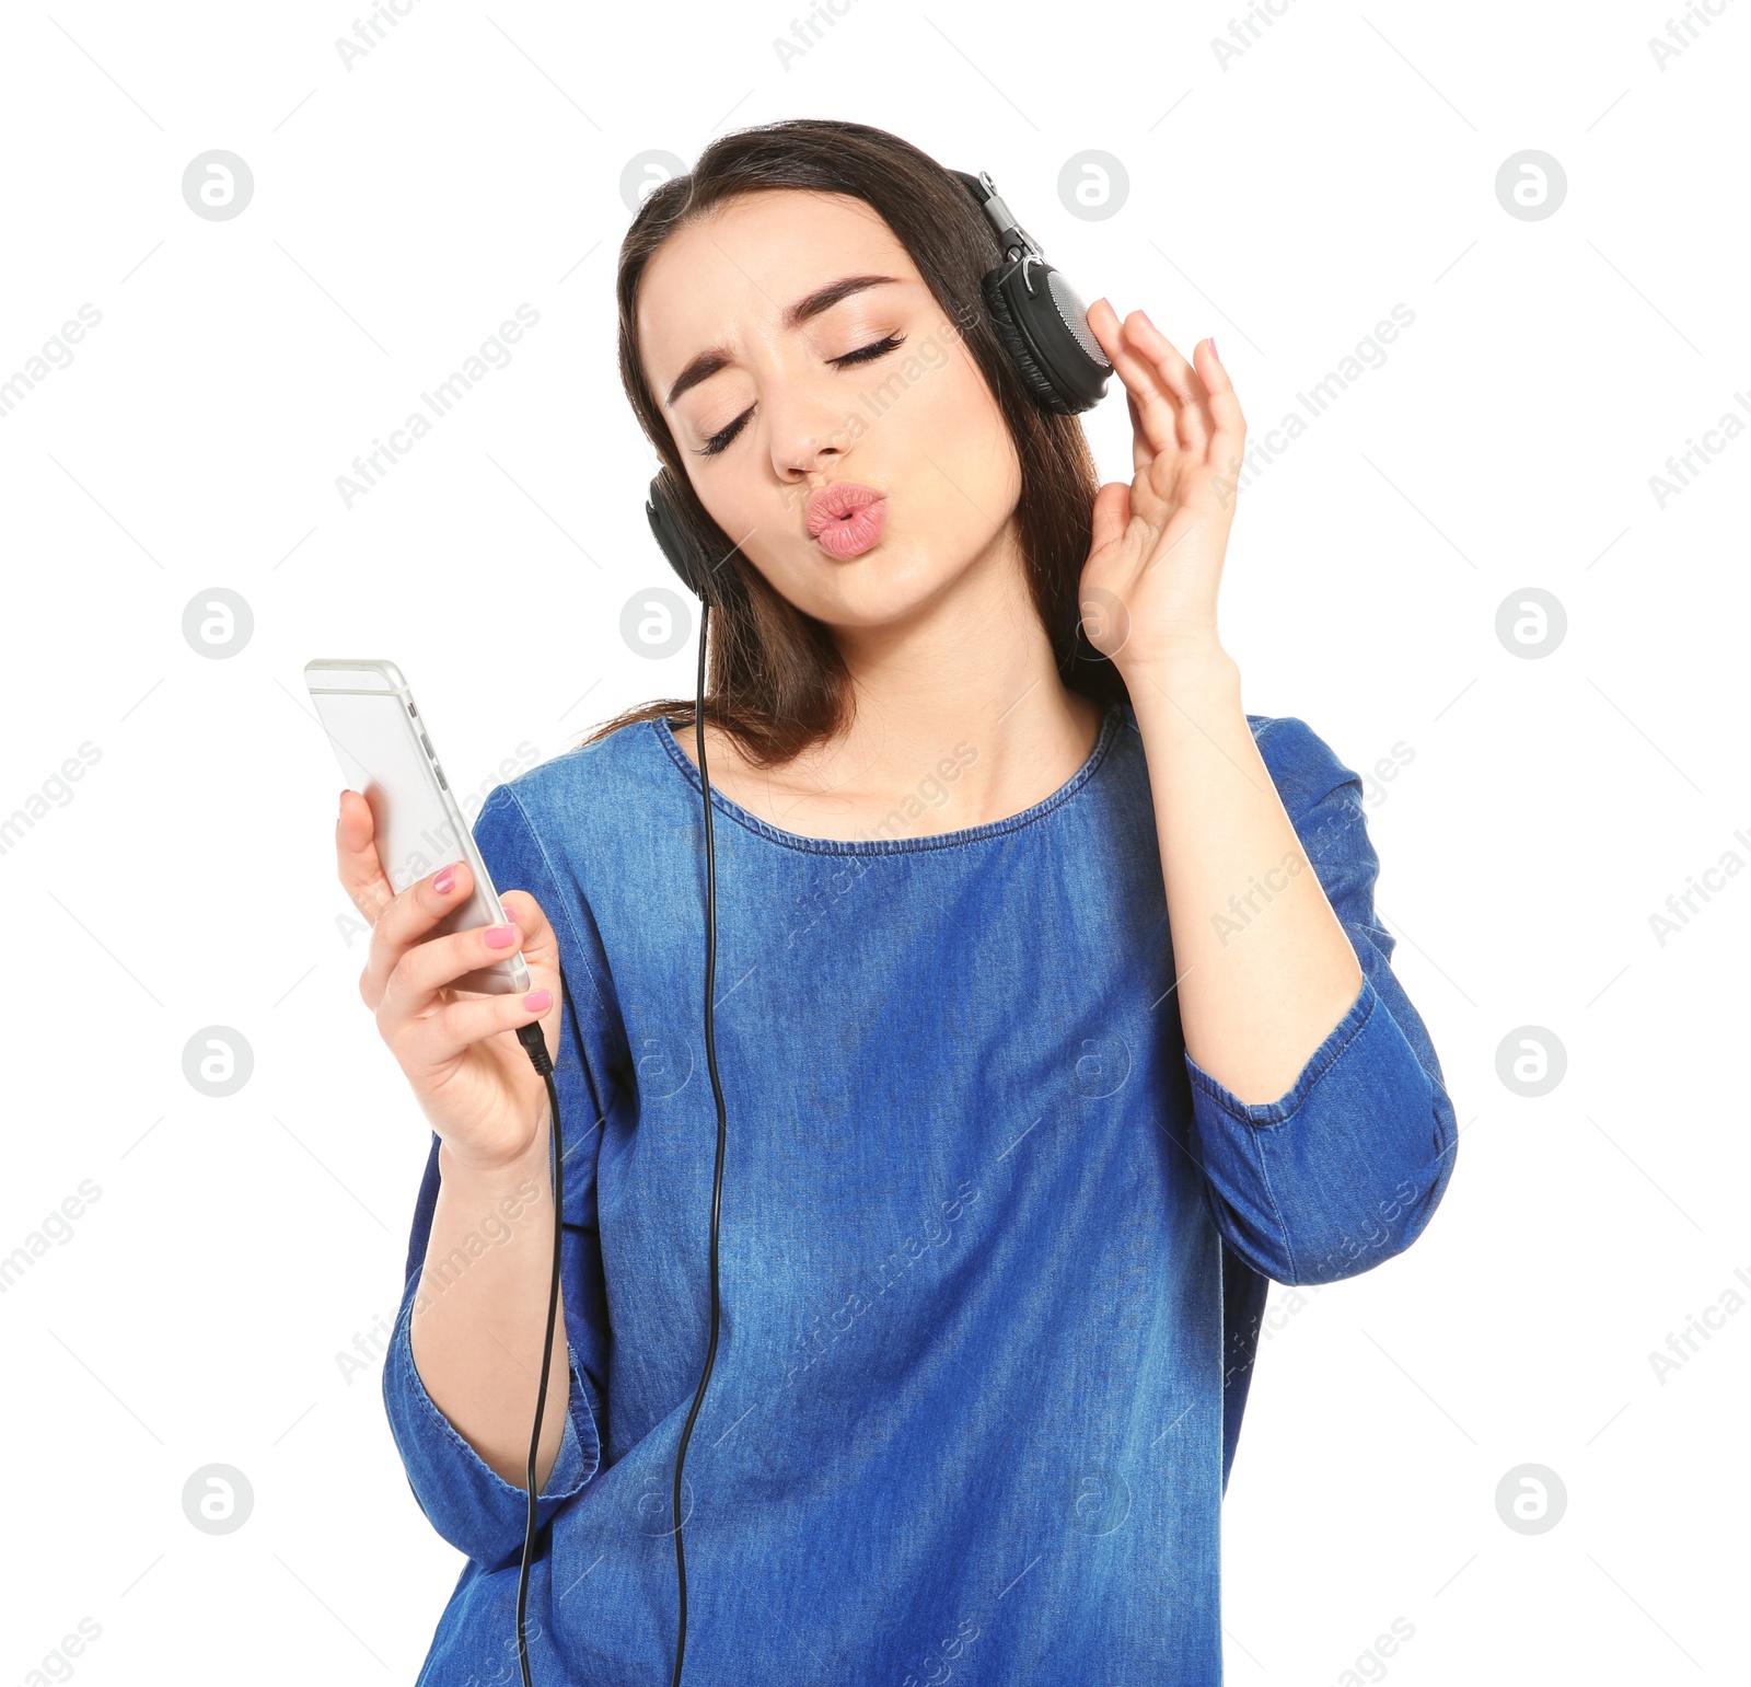
[[[1266,1279],[1408,1247],[1455,1119],[1375,923],[1361,781],[1241,709],[1245,422],[1105,300],[1129,482],[1033,401],[961,180],[846,123],[714,142],[622,247],[622,370],[714,559],[721,1337],[685,1463],[686,1678],[1220,1680],[1219,1519]],[[630,494],[629,494],[630,496]],[[385,1368],[468,1556],[424,1687],[671,1678],[716,1111],[693,709],[499,787],[513,923],[431,937],[364,801],[361,979],[434,1128]],[[538,990],[452,979],[520,946]],[[562,978],[566,988],[562,990]]]

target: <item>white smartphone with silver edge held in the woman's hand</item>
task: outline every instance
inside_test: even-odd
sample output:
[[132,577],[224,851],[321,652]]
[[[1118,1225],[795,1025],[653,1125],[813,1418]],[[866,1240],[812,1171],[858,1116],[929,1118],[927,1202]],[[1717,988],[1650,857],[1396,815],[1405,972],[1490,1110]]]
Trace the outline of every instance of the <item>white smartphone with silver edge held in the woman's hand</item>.
[[[443,776],[401,669],[394,662],[324,657],[305,664],[305,685],[347,783],[371,804],[376,855],[390,888],[399,895],[445,862],[466,860],[475,874],[475,893],[452,907],[432,934],[503,923],[499,892]],[[464,972],[452,988],[485,995],[522,993],[529,988],[529,967],[522,955],[511,955]]]

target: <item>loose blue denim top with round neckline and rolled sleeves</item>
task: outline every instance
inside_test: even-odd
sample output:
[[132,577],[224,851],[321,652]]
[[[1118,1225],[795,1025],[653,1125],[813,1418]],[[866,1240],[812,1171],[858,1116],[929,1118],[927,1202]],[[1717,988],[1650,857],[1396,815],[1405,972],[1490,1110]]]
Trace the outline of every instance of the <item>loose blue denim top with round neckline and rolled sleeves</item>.
[[[1266,1279],[1401,1253],[1455,1158],[1375,921],[1361,780],[1301,720],[1247,718],[1364,972],[1268,1104],[1185,1053],[1128,708],[1051,797],[958,832],[914,836],[916,797],[886,836],[832,841],[713,795],[728,1149],[685,1466],[690,1682],[1220,1682],[1219,1515]],[[944,745],[933,778],[951,767]],[[567,986],[571,1407],[531,1669],[657,1687],[709,1319],[699,771],[665,722],[623,727],[497,787],[475,834],[553,921]],[[483,1687],[518,1680],[527,1500],[413,1365],[436,1149],[383,1398],[468,1556],[418,1680]],[[503,1233],[483,1216],[425,1293]]]

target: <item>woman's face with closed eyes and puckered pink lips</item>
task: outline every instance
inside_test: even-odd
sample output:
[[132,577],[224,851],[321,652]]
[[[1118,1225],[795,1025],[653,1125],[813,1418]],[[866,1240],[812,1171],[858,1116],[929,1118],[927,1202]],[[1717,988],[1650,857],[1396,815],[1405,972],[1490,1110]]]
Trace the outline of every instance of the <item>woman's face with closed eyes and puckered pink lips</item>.
[[[700,501],[804,613],[893,624],[1007,554],[1014,440],[863,200],[767,189],[671,235],[644,270],[637,335]],[[818,538],[809,499],[839,484],[884,503]]]

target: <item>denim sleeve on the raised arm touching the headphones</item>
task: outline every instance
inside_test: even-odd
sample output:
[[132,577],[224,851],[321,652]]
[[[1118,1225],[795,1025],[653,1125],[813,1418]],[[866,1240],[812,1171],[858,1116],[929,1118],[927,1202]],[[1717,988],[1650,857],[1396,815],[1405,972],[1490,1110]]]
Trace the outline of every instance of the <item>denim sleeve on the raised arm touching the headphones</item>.
[[1453,1174],[1459,1130],[1441,1063],[1376,923],[1380,858],[1361,776],[1304,722],[1255,741],[1338,914],[1362,988],[1275,1102],[1243,1102],[1191,1053],[1192,1126],[1224,1242],[1282,1284],[1334,1282],[1403,1253]]

